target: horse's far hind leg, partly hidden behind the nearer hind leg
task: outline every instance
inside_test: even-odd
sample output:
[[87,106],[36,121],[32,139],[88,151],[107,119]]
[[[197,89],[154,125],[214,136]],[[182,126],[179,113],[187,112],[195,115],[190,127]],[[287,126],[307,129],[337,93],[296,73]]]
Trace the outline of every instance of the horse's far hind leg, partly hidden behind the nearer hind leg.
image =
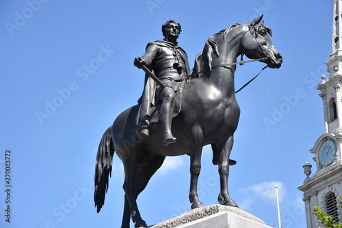
[[[138,195],[146,188],[148,181],[155,174],[155,172],[161,167],[165,157],[158,156],[154,160],[151,160],[146,166],[138,166],[136,178],[135,178],[135,201]],[[124,214],[122,216],[121,228],[129,228],[131,217],[131,210],[127,196],[124,196]],[[139,227],[139,224],[135,224],[135,227]]]

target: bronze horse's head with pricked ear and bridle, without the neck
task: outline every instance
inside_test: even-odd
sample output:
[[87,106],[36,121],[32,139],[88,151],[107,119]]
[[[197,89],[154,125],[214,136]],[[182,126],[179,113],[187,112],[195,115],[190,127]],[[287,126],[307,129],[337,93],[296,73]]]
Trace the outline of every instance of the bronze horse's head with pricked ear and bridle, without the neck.
[[273,46],[269,36],[272,30],[261,23],[263,15],[248,23],[248,31],[244,31],[241,40],[241,53],[250,59],[262,58],[261,62],[269,68],[279,68],[282,64],[282,56]]

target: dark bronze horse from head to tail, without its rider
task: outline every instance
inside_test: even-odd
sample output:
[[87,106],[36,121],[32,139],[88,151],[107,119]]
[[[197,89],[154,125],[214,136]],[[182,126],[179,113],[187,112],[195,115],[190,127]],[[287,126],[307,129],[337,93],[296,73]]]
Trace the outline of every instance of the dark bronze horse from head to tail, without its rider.
[[160,123],[151,127],[150,136],[137,138],[135,118],[139,105],[122,112],[105,131],[96,156],[94,201],[97,212],[105,201],[114,151],[124,165],[124,214],[122,228],[129,227],[130,217],[135,227],[146,226],[137,208],[137,196],[150,177],[161,167],[166,156],[188,154],[191,157],[189,200],[192,209],[202,207],[197,183],[200,174],[202,147],[211,144],[218,160],[220,197],[223,205],[237,204],[229,197],[229,156],[240,109],[235,99],[234,73],[239,55],[279,68],[282,56],[272,45],[272,31],[261,23],[262,15],[251,23],[231,25],[211,36],[196,56],[195,66],[183,89],[181,112],[172,121],[175,144],[163,147]]

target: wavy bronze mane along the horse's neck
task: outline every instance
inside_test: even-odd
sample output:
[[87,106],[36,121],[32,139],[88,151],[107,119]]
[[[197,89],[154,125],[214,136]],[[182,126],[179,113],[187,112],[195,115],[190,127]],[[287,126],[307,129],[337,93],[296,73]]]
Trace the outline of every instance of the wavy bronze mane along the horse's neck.
[[233,29],[233,27],[236,27],[240,24],[231,25],[226,29],[222,29],[216,34],[213,34],[213,36],[210,36],[208,40],[205,42],[205,47],[196,55],[195,58],[195,66],[192,70],[192,76],[198,75],[202,76],[204,71],[211,71],[212,68],[212,60],[213,55],[216,55],[216,57],[220,56],[220,53],[218,51],[218,43],[216,40],[219,38],[226,39],[229,32]]

